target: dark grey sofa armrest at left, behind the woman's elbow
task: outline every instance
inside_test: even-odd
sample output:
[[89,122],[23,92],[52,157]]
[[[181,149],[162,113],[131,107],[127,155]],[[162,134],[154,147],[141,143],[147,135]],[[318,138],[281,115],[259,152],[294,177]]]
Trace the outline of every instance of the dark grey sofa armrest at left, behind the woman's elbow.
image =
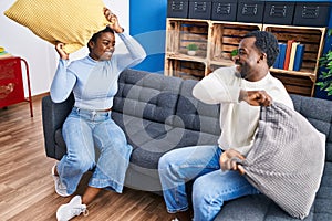
[[42,98],[44,148],[48,157],[56,158],[55,131],[62,127],[73,105],[73,95],[70,95],[69,98],[62,103],[52,102],[50,95]]

